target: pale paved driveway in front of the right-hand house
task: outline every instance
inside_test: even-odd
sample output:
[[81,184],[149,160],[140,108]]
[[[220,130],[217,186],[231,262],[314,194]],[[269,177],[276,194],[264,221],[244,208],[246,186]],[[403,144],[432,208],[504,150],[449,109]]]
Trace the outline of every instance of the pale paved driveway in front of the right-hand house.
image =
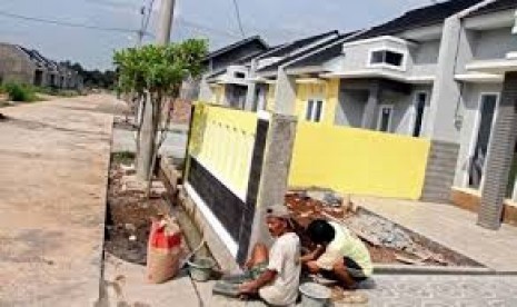
[[352,201],[499,273],[517,273],[517,227],[487,230],[477,216],[451,205],[371,197]]

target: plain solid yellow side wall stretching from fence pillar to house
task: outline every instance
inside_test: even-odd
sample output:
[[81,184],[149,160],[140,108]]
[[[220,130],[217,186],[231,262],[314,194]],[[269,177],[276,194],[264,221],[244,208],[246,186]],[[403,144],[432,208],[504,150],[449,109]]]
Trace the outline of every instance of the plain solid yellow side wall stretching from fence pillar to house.
[[425,139],[299,122],[289,185],[419,199],[429,147]]

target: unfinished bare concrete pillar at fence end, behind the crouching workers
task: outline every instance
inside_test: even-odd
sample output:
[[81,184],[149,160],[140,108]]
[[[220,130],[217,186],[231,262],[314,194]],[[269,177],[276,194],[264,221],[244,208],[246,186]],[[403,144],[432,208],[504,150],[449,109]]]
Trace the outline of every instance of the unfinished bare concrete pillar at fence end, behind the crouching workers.
[[271,205],[285,202],[295,145],[296,125],[297,119],[294,116],[271,116],[257,195],[257,207],[251,226],[250,249],[256,242],[272,242],[272,238],[266,227],[265,209]]

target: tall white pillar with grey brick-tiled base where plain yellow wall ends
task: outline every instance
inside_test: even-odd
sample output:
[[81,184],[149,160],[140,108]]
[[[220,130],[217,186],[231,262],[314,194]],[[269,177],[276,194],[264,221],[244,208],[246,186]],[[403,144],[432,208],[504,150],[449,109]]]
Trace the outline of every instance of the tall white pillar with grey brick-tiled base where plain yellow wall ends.
[[[469,40],[456,16],[445,20],[430,107],[422,136],[431,139],[421,200],[448,202],[459,152],[457,110],[461,102],[456,68],[469,60]],[[471,53],[471,52],[470,52]]]

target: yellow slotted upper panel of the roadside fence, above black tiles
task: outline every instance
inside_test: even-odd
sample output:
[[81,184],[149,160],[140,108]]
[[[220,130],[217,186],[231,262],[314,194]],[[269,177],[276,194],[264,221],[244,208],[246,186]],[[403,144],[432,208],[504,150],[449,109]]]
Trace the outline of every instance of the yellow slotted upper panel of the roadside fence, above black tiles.
[[238,196],[248,189],[257,113],[197,103],[189,154]]

